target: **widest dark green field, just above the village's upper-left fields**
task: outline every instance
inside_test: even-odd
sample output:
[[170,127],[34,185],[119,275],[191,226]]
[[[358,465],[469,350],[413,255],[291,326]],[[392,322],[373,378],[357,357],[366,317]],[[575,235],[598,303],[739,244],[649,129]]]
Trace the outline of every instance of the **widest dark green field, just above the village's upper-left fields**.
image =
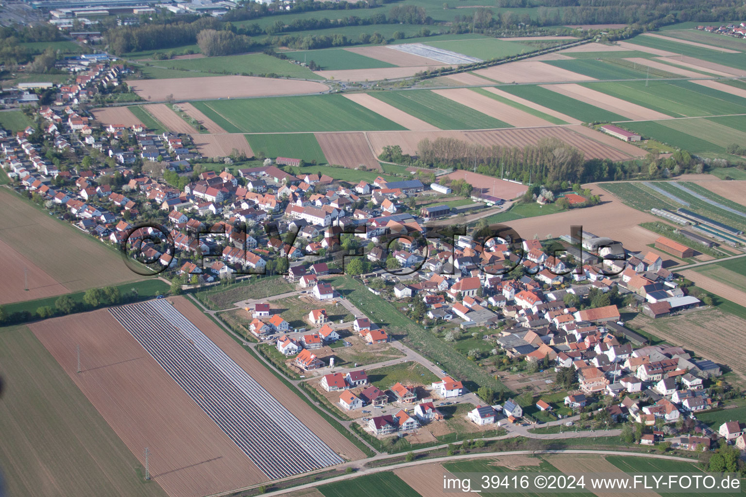
[[342,95],[213,100],[194,105],[203,112],[213,110],[223,129],[228,130],[222,123],[228,123],[243,133],[404,130]]

